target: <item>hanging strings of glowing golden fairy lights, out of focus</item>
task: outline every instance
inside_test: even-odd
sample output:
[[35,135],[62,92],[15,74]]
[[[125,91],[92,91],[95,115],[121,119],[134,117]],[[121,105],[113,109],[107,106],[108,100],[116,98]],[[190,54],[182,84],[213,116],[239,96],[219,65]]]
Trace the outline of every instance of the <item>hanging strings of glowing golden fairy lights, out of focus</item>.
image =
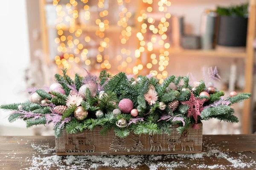
[[[77,2],[78,0],[70,0],[69,3],[65,5],[61,4],[60,1],[61,0],[53,0],[53,5],[56,6],[56,13],[58,16],[58,24],[56,25],[58,37],[55,38],[55,43],[58,44],[57,51],[62,53],[63,57],[56,56],[55,63],[59,68],[64,67],[68,69],[71,68],[72,62],[84,62],[85,65],[90,65],[92,61],[87,57],[90,49],[86,48],[86,45],[83,44],[84,42],[89,43],[92,37],[86,35],[84,39],[82,39],[84,42],[81,42],[81,38],[79,37],[90,30],[90,27],[92,26],[88,24],[76,24],[79,15],[83,15],[82,17],[84,20],[93,20],[91,17],[90,6],[87,4],[88,0],[81,0],[84,4],[84,13],[82,14],[77,10],[79,4]],[[145,8],[142,8],[140,14],[137,15],[136,20],[140,23],[138,24],[140,28],[137,28],[137,25],[129,25],[128,21],[132,19],[131,17],[133,13],[129,11],[129,8],[124,7],[128,3],[131,3],[131,1],[132,0],[117,0],[116,2],[122,8],[118,13],[119,20],[116,23],[117,26],[115,26],[119,27],[119,29],[116,29],[118,30],[118,33],[117,31],[114,31],[113,34],[119,34],[120,46],[123,46],[123,48],[121,48],[121,50],[117,52],[116,57],[113,58],[108,54],[103,53],[103,51],[111,45],[111,37],[106,37],[105,34],[105,31],[110,29],[108,20],[109,11],[104,8],[104,0],[98,0],[97,6],[99,8],[99,13],[95,20],[96,27],[93,27],[96,28],[96,36],[99,37],[99,54],[96,54],[96,62],[100,63],[100,67],[103,69],[111,69],[110,58],[116,59],[118,62],[117,69],[119,71],[125,71],[128,74],[139,74],[139,71],[146,67],[150,70],[153,76],[156,76],[160,81],[163,81],[168,75],[165,69],[169,64],[168,48],[170,47],[170,44],[166,32],[169,27],[168,19],[171,17],[171,14],[168,13],[167,10],[168,7],[171,6],[171,2],[168,0],[158,1],[157,11],[163,14],[163,17],[159,20],[158,18],[155,19],[153,17],[153,11],[156,12],[156,9],[153,10],[152,8],[153,0],[142,0],[142,6]],[[64,31],[68,31],[69,35],[65,36],[67,34],[64,34]],[[127,49],[126,43],[131,38],[132,34],[134,34],[134,31],[137,31],[135,34],[139,43],[137,49],[132,53],[130,49]],[[150,41],[146,40],[147,36],[151,36],[149,38]],[[145,65],[143,65],[141,61],[143,52],[150,54],[150,62]],[[135,56],[135,58],[132,56]],[[133,62],[133,59],[135,59],[135,62]],[[157,69],[154,70],[153,68]]]

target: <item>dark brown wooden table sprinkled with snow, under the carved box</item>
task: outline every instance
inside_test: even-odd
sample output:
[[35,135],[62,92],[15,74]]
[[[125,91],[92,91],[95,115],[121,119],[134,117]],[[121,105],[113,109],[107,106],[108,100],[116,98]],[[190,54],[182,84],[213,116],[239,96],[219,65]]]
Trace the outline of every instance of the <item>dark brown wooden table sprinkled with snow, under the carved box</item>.
[[204,135],[203,153],[186,155],[62,157],[54,147],[54,136],[0,136],[0,169],[256,169],[253,134]]

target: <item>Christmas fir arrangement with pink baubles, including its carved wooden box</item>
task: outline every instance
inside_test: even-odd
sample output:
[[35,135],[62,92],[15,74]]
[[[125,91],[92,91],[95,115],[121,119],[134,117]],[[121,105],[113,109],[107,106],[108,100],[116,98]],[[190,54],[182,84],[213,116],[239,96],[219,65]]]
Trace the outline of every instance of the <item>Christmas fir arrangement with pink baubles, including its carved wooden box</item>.
[[[210,73],[211,77],[218,73]],[[99,77],[55,74],[49,91],[31,91],[30,101],[1,105],[9,122],[27,127],[52,123],[57,155],[200,153],[201,120],[238,122],[231,106],[250,94],[230,93],[189,77],[158,79],[101,71]]]

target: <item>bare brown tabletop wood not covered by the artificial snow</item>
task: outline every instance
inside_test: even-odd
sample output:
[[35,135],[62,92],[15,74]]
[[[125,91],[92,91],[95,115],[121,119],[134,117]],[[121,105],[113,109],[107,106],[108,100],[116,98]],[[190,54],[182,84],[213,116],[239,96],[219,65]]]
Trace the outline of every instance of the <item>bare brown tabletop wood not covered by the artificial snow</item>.
[[[44,150],[36,148],[36,146],[44,146],[44,148],[55,147],[54,136],[0,136],[0,169],[6,170],[19,170],[25,169],[32,166],[33,157],[49,157],[55,155],[55,151],[52,153],[43,154]],[[203,135],[203,152],[207,152],[209,147],[218,148],[219,151],[227,152],[227,154],[233,159],[241,157],[244,155],[242,162],[251,162],[256,160],[256,135]],[[168,159],[172,164],[173,161],[179,161],[180,157],[176,158],[176,155],[172,156],[172,159]],[[165,156],[162,156],[164,158]],[[60,156],[64,159],[64,156]],[[145,155],[145,159],[149,156]],[[196,160],[196,161],[195,161]],[[223,165],[225,169],[239,169],[230,166],[232,164],[230,161],[224,158],[218,158],[214,154],[211,156],[204,156],[199,159],[192,159],[191,157],[182,158],[184,164],[187,164],[186,169],[196,169],[197,164],[204,164],[206,166],[211,166],[215,164]],[[166,160],[164,161],[166,163]],[[156,160],[156,164],[163,163],[163,160]],[[64,164],[66,165],[66,164]],[[66,165],[71,166],[71,165]],[[41,167],[45,169],[44,167]],[[46,168],[50,170],[58,169],[59,167]],[[87,169],[87,167],[84,167]],[[130,169],[127,167],[97,167],[97,170],[111,170],[111,169]],[[148,165],[141,164],[136,169],[149,170]],[[165,170],[165,167],[159,167],[159,170]],[[182,167],[176,167],[173,169],[184,169]],[[209,169],[209,168],[203,168]],[[253,167],[244,167],[242,169],[255,169]]]

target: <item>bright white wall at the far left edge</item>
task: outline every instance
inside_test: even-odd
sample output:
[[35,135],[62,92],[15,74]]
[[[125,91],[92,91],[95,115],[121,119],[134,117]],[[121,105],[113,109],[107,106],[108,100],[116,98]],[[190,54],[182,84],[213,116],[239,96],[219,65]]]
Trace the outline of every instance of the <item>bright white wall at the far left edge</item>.
[[[4,0],[1,6],[0,105],[28,99],[22,91],[26,89],[24,69],[30,60],[26,0]],[[10,113],[0,110],[0,135],[6,134],[6,126],[26,128],[21,121],[10,125],[5,118]]]

